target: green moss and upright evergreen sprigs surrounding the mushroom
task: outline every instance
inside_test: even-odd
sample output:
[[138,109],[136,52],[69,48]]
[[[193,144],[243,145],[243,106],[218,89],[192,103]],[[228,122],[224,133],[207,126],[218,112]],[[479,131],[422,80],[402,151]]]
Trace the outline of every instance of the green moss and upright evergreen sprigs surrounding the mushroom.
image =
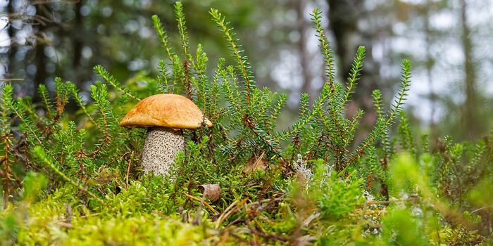
[[[235,32],[216,9],[210,14],[232,54],[208,75],[202,46],[189,47],[182,4],[175,4],[182,52],[174,53],[161,20],[154,27],[166,50],[161,74],[145,87],[118,82],[102,66],[93,102],[71,82],[56,79],[56,95],[39,86],[42,105],[1,97],[0,234],[6,245],[303,244],[441,245],[491,242],[493,145],[453,143],[419,148],[402,111],[411,81],[404,60],[400,89],[385,112],[373,91],[377,121],[354,143],[363,111],[346,107],[363,68],[359,47],[345,86],[335,79],[330,44],[313,24],[327,82],[313,104],[304,94],[299,117],[279,131],[285,94],[259,89]],[[229,65],[231,63],[231,65]],[[111,86],[113,90],[108,89]],[[213,127],[187,130],[187,149],[169,176],[144,175],[144,130],[118,127],[137,101],[183,93]],[[65,112],[74,101],[80,110]],[[399,135],[390,127],[400,116]],[[400,143],[396,145],[395,143]],[[353,147],[354,146],[354,147]],[[296,159],[296,160],[295,160]],[[201,199],[201,184],[218,183],[220,200]],[[480,194],[485,194],[482,197]],[[484,199],[483,199],[484,198]]]

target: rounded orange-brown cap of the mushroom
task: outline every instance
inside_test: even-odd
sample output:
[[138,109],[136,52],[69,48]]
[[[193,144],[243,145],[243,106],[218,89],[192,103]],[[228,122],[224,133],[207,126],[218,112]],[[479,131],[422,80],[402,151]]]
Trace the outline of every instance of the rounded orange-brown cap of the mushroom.
[[202,111],[185,96],[157,94],[139,101],[127,112],[120,127],[169,127],[172,129],[197,129],[205,119]]

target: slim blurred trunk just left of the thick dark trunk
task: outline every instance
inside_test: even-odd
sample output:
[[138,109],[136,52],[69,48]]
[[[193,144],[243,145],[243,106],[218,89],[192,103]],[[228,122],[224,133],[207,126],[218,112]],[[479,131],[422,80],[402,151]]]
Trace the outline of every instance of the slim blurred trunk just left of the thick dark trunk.
[[306,46],[306,40],[307,40],[306,32],[310,27],[310,25],[309,22],[307,22],[304,18],[305,8],[306,8],[306,1],[297,0],[297,14],[298,14],[297,22],[298,22],[298,32],[299,32],[298,50],[299,50],[299,57],[301,62],[301,70],[303,70],[302,71],[303,84],[301,85],[301,93],[308,93],[308,95],[313,96],[311,90],[311,82],[313,80],[313,74],[310,71],[311,56],[310,56],[310,51],[308,51],[308,47]]

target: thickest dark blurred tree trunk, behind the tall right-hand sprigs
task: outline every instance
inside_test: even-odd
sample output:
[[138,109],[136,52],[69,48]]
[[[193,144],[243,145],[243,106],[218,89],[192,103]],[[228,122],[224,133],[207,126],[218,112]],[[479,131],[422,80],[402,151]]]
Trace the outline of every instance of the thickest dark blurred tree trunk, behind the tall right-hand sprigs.
[[372,40],[374,34],[362,32],[358,29],[358,21],[364,15],[364,0],[327,0],[329,4],[330,28],[335,34],[336,54],[339,61],[339,76],[346,78],[351,70],[354,54],[358,46],[366,46],[366,59],[361,72],[361,79],[356,86],[347,114],[349,117],[356,113],[358,108],[366,112],[361,119],[361,130],[355,138],[359,143],[366,137],[370,126],[375,122],[375,110],[371,91],[377,89],[380,65],[372,57]]

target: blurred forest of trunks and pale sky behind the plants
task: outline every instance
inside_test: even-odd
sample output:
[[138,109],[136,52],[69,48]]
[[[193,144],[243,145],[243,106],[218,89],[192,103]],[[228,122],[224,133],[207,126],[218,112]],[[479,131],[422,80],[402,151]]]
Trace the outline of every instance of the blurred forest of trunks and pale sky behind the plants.
[[[183,1],[192,42],[203,44],[215,69],[229,53],[208,14],[218,8],[235,27],[261,86],[289,95],[280,126],[290,122],[301,93],[316,96],[324,78],[313,8],[325,27],[344,83],[359,45],[366,46],[363,75],[348,114],[365,110],[363,127],[375,116],[371,91],[387,103],[399,82],[402,58],[413,63],[408,117],[432,139],[470,140],[489,131],[493,119],[492,0],[203,0]],[[173,1],[0,0],[0,84],[18,96],[40,98],[39,84],[54,89],[62,77],[86,91],[101,64],[122,82],[144,86],[164,57],[151,23],[157,14],[178,44]]]

